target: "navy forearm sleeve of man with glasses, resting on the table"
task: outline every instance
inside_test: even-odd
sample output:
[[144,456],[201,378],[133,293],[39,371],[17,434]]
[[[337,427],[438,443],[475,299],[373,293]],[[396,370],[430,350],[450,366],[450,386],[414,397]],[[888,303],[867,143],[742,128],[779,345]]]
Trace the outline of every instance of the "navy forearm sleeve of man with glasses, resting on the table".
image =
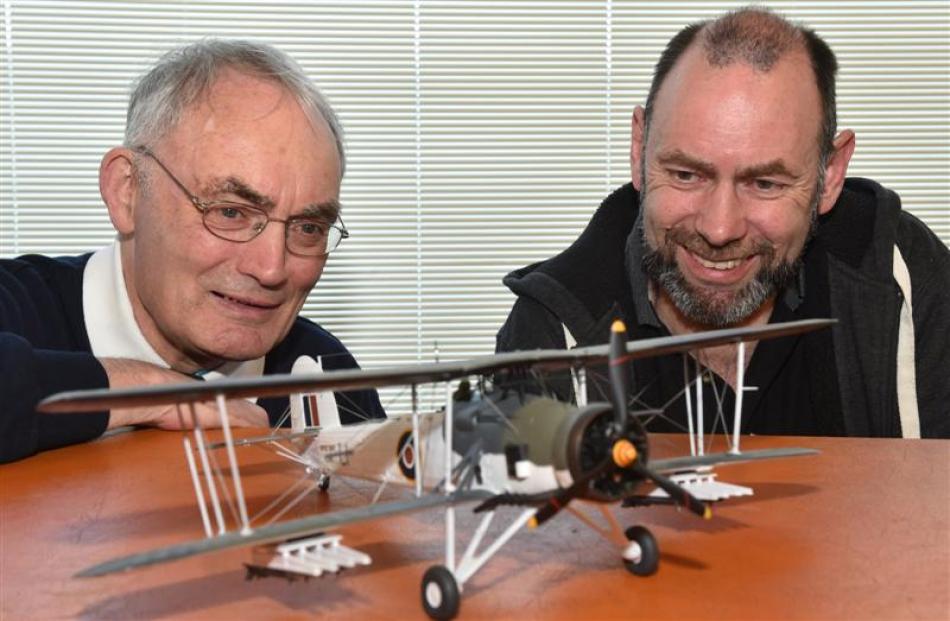
[[34,349],[20,336],[0,333],[0,463],[102,435],[107,412],[40,414],[36,404],[62,390],[108,385],[91,354]]

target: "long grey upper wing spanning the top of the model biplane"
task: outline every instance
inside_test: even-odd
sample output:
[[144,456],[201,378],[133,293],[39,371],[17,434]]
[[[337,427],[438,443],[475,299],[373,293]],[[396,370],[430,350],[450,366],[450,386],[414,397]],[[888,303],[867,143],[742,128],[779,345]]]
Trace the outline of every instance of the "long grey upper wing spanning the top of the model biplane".
[[[801,334],[835,323],[833,319],[805,319],[751,328],[713,330],[679,336],[666,336],[627,344],[628,358],[648,358],[689,351],[725,343],[758,341]],[[364,371],[329,371],[312,375],[269,375],[251,379],[223,379],[188,384],[164,384],[118,390],[98,389],[63,392],[40,402],[41,412],[89,412],[114,407],[211,401],[217,395],[243,397],[282,396],[294,393],[355,390],[398,384],[444,382],[456,377],[485,375],[503,369],[556,370],[607,360],[608,345],[576,349],[538,349],[482,356],[458,362],[407,365]]]

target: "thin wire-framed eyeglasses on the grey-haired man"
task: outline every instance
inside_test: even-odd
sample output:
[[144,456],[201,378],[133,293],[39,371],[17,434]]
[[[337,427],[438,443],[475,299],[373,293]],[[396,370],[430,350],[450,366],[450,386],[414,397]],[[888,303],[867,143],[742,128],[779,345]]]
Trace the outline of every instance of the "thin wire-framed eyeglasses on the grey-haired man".
[[266,211],[253,205],[203,201],[192,194],[147,147],[137,147],[135,150],[155,160],[159,168],[165,171],[168,178],[201,213],[201,222],[208,232],[220,239],[249,242],[260,235],[269,222],[280,222],[286,227],[284,243],[288,252],[307,257],[322,257],[336,250],[340,242],[350,236],[342,218],[337,218],[339,224],[330,224],[325,219],[313,216],[293,216],[280,220],[271,218]]

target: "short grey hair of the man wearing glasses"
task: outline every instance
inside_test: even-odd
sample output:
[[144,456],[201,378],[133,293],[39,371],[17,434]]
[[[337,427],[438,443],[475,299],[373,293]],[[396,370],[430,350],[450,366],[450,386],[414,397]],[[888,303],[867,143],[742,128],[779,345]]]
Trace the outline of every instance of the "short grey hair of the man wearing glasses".
[[311,122],[325,121],[336,142],[343,176],[343,126],[330,103],[290,56],[251,41],[203,39],[166,52],[132,89],[125,146],[157,142],[178,124],[186,108],[208,92],[219,73],[229,68],[273,80],[297,98]]

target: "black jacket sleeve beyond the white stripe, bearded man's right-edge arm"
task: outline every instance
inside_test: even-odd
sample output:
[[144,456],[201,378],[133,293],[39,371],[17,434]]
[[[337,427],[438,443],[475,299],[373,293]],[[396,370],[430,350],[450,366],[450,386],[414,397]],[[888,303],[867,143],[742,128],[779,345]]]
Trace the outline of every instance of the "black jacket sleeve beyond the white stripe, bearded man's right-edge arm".
[[898,245],[911,277],[922,438],[950,438],[950,249],[903,213]]

